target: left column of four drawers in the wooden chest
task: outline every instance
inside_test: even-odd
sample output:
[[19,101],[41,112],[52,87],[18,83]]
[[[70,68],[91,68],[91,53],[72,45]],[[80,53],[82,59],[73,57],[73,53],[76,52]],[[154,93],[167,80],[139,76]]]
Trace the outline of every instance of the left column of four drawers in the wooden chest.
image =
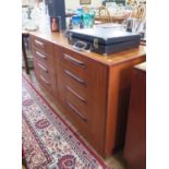
[[46,90],[55,96],[53,45],[34,36],[31,36],[31,41],[36,79]]

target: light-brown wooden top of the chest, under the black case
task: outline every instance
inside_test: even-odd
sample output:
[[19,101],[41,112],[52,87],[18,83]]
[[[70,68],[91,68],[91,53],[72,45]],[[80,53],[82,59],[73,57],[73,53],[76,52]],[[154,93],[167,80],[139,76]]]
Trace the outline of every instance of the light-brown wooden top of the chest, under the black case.
[[31,32],[29,35],[34,35],[37,37],[40,37],[43,39],[46,39],[52,44],[56,44],[58,46],[62,46],[64,48],[74,50],[81,55],[84,55],[88,58],[92,58],[102,64],[106,65],[113,65],[121,62],[125,62],[132,59],[136,59],[140,57],[143,57],[146,55],[146,49],[144,46],[140,46],[138,48],[133,48],[129,50],[124,50],[122,52],[112,53],[109,56],[104,56],[95,52],[82,52],[73,49],[71,45],[69,45],[67,37],[62,33],[43,33],[43,32]]

